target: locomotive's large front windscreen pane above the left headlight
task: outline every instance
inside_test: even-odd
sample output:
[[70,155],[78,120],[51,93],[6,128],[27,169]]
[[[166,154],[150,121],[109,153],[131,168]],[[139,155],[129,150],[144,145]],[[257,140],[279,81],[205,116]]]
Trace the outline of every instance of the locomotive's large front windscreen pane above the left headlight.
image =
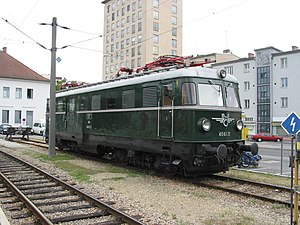
[[224,106],[221,85],[198,84],[200,105]]

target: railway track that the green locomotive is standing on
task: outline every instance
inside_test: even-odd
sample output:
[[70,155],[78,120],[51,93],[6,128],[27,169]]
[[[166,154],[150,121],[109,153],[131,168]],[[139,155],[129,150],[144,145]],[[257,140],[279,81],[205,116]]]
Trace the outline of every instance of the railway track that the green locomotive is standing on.
[[[33,144],[45,148],[47,148],[48,146],[47,144],[41,143],[40,141],[22,141],[22,143]],[[165,176],[165,174],[162,176]],[[222,175],[213,175],[204,179],[200,178],[183,180],[184,182],[189,182],[194,185],[222,190],[229,193],[260,199],[275,204],[282,204],[285,206],[290,206],[291,204],[291,190],[290,188],[283,186],[232,178]]]

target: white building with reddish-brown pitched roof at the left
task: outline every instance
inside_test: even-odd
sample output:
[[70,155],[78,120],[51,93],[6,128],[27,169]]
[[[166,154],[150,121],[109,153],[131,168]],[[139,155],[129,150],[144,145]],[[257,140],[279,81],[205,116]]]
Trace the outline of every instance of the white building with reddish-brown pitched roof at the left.
[[0,123],[30,126],[45,119],[50,81],[0,51]]

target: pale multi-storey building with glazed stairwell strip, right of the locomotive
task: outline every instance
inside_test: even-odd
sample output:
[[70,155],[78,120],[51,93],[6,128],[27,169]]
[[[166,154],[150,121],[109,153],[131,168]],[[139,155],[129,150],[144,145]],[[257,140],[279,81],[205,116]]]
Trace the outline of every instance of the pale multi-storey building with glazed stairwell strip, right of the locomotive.
[[300,114],[300,50],[282,52],[266,47],[248,58],[213,64],[237,77],[245,126],[249,134],[269,132],[285,135],[281,122],[292,112]]

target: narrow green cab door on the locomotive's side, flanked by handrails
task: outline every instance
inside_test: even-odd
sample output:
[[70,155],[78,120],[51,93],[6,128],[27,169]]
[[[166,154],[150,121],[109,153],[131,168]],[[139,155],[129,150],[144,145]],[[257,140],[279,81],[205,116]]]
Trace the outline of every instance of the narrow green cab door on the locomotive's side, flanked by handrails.
[[161,138],[173,138],[173,105],[174,83],[164,83],[159,112],[159,136]]

